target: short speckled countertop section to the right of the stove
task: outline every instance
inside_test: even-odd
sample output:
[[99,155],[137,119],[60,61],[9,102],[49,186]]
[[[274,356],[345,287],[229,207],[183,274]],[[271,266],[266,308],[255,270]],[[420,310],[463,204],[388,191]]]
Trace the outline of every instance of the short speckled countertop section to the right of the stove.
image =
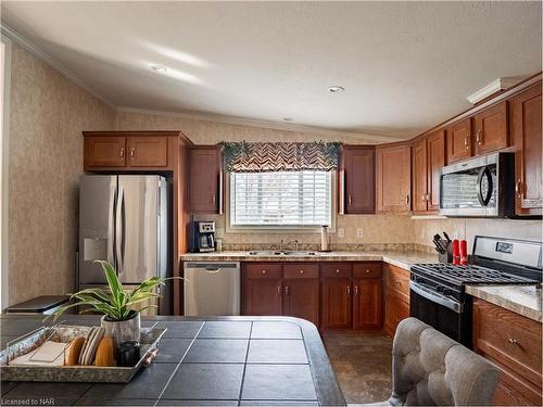
[[543,322],[541,289],[535,285],[466,285],[466,292],[502,308]]

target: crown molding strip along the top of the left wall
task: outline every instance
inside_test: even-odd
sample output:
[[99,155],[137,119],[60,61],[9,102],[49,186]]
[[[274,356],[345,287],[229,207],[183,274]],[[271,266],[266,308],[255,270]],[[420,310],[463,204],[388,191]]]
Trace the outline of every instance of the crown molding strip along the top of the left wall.
[[26,51],[30,52],[34,56],[36,56],[38,60],[45,62],[49,66],[51,66],[53,69],[58,71],[62,76],[65,76],[67,79],[70,79],[72,82],[77,85],[79,88],[83,88],[87,93],[91,94],[92,97],[97,98],[108,106],[112,109],[116,109],[116,106],[105,99],[103,96],[100,93],[97,93],[93,89],[89,88],[87,84],[85,84],[81,79],[77,77],[72,71],[66,68],[63,64],[61,64],[59,61],[53,59],[51,55],[49,55],[47,52],[38,48],[35,43],[30,42],[28,39],[23,37],[21,34],[15,31],[13,28],[11,28],[8,24],[4,22],[0,21],[0,33],[2,36],[8,37],[11,39],[13,42],[16,42],[21,47],[23,47]]

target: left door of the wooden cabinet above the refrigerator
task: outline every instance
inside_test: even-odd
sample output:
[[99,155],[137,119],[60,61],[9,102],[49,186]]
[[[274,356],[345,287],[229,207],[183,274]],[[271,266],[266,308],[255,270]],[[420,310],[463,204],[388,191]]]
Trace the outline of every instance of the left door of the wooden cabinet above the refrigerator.
[[126,164],[125,137],[86,137],[85,168],[124,167]]

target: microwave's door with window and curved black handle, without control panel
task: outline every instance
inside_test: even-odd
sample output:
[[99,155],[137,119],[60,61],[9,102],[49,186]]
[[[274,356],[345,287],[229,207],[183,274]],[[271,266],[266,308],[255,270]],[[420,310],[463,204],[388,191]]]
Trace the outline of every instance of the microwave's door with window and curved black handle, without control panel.
[[498,155],[453,164],[441,174],[440,214],[498,216]]

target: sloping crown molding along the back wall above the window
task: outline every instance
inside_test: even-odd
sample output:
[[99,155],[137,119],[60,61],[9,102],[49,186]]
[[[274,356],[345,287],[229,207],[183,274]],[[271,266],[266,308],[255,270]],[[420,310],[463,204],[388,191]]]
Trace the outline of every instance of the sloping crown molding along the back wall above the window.
[[293,123],[258,120],[258,119],[243,118],[236,116],[224,116],[213,113],[165,112],[165,111],[155,111],[150,109],[139,109],[139,107],[128,107],[128,106],[118,106],[117,112],[146,114],[153,116],[179,117],[189,120],[212,122],[212,123],[220,123],[235,126],[261,127],[261,128],[268,128],[273,130],[282,130],[282,131],[296,131],[296,132],[311,133],[323,137],[341,137],[344,139],[345,138],[352,139],[353,142],[358,142],[358,143],[363,141],[368,143],[387,143],[393,141],[403,141],[403,139],[399,139],[391,136],[342,131],[342,130],[328,129],[324,127],[298,125]]

